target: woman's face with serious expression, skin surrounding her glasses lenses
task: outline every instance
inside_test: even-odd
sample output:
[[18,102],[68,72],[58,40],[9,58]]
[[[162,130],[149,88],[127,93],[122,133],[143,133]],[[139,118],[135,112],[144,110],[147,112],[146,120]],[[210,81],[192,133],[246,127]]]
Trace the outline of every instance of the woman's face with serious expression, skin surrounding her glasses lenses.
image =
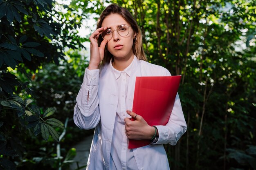
[[108,27],[112,30],[113,36],[112,39],[108,41],[107,48],[108,51],[114,56],[115,60],[127,59],[133,57],[132,45],[133,39],[136,36],[136,33],[129,27],[129,33],[125,37],[117,33],[118,27],[120,25],[131,26],[124,18],[119,14],[110,14],[102,22],[102,27]]

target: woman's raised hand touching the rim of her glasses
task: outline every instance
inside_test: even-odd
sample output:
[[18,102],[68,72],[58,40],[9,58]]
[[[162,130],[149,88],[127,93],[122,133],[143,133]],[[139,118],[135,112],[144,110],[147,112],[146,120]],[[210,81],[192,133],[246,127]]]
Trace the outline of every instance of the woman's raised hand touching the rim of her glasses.
[[89,40],[91,42],[90,43],[90,62],[89,62],[89,66],[88,66],[89,70],[97,69],[99,64],[103,60],[105,46],[108,41],[103,40],[101,42],[101,45],[98,46],[98,38],[99,38],[100,34],[103,31],[105,31],[107,28],[108,27],[101,27],[101,28],[97,29],[96,31],[94,31],[94,33],[92,33],[92,35],[89,38]]

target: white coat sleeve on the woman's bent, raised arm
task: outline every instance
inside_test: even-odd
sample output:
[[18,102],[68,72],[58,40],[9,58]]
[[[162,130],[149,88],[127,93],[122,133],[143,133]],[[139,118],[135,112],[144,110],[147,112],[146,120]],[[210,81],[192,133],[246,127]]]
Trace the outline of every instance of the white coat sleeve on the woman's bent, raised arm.
[[74,123],[82,129],[92,129],[100,120],[99,97],[99,69],[85,68],[83,83],[76,97],[74,107]]

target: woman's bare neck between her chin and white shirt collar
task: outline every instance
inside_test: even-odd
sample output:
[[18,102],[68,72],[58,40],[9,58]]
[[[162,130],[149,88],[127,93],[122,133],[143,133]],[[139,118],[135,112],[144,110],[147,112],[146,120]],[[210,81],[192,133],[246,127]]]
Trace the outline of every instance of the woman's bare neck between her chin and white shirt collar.
[[114,57],[112,66],[119,71],[124,71],[124,69],[126,69],[126,67],[128,67],[132,63],[133,59],[134,54],[130,55],[130,57],[124,58]]

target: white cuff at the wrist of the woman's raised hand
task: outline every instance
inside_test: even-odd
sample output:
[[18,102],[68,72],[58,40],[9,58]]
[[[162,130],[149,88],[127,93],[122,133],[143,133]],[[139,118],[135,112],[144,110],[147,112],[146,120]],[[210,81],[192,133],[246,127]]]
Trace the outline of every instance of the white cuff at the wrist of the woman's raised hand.
[[99,69],[89,70],[85,68],[83,83],[88,86],[96,86],[99,84]]

